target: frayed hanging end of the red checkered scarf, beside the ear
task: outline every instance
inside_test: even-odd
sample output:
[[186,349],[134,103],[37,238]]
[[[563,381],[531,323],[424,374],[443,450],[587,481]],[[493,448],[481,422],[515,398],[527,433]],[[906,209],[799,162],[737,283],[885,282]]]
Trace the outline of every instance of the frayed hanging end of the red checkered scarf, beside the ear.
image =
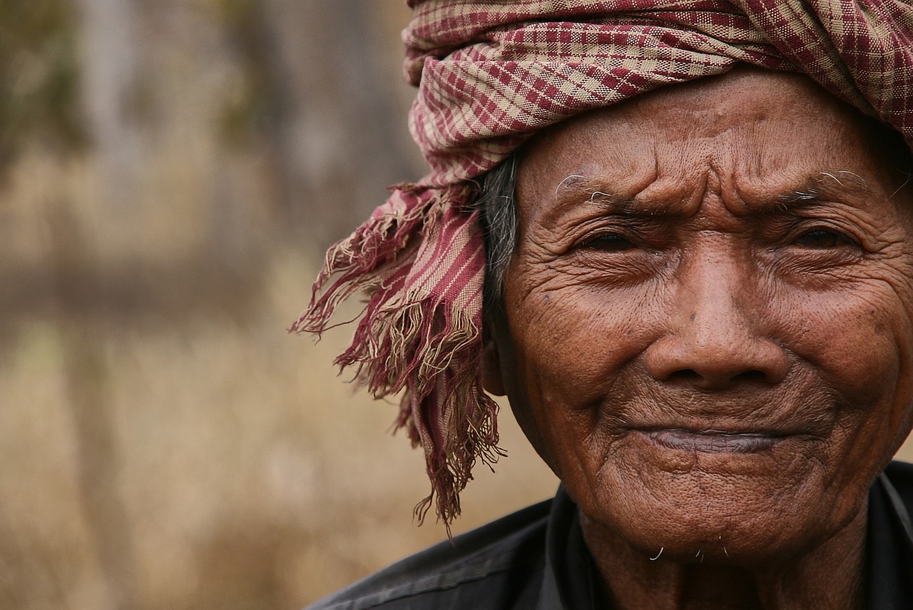
[[[448,537],[477,458],[490,467],[505,454],[498,447],[498,405],[479,380],[480,296],[467,306],[438,285],[446,281],[416,278],[415,268],[435,263],[442,256],[436,248],[462,244],[444,255],[467,263],[480,295],[484,255],[472,247],[481,239],[477,221],[459,212],[473,194],[471,185],[396,187],[351,237],[330,248],[308,309],[289,329],[320,336],[342,300],[368,294],[352,344],[335,362],[341,371],[354,368],[375,398],[403,393],[394,430],[404,428],[413,446],[424,448],[431,480],[415,518],[424,522],[435,506]],[[463,241],[453,239],[456,233]]]

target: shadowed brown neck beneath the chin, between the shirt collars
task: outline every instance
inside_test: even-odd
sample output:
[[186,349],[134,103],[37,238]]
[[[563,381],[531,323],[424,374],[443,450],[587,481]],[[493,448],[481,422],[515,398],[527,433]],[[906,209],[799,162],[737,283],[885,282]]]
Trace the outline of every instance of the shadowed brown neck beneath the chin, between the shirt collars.
[[809,552],[751,564],[701,563],[699,555],[651,561],[583,514],[581,525],[604,596],[618,610],[852,610],[865,607],[866,514]]

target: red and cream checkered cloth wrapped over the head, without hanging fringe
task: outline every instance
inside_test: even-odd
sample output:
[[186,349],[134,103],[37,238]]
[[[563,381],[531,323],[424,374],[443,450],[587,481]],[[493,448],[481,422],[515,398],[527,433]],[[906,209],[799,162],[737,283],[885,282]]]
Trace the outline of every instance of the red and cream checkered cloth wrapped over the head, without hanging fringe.
[[913,8],[890,0],[425,0],[404,32],[432,173],[482,174],[542,127],[736,62],[801,70],[913,142]]

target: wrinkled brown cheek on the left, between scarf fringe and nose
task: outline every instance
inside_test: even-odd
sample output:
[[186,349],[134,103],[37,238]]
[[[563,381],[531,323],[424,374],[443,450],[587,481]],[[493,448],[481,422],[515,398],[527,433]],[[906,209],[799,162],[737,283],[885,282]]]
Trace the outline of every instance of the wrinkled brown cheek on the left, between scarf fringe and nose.
[[612,397],[637,376],[624,372],[656,335],[661,295],[554,283],[509,294],[519,295],[506,303],[511,405],[534,428],[527,436],[561,479],[592,481],[613,448],[605,437],[616,415]]

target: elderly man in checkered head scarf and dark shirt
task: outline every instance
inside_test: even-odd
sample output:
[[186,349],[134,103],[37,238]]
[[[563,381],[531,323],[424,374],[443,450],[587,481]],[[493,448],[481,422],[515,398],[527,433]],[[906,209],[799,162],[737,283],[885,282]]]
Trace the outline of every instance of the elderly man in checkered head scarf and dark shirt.
[[482,387],[561,489],[315,607],[913,607],[913,9],[412,4],[432,172],[296,329],[368,290],[340,363],[421,515],[498,451]]

